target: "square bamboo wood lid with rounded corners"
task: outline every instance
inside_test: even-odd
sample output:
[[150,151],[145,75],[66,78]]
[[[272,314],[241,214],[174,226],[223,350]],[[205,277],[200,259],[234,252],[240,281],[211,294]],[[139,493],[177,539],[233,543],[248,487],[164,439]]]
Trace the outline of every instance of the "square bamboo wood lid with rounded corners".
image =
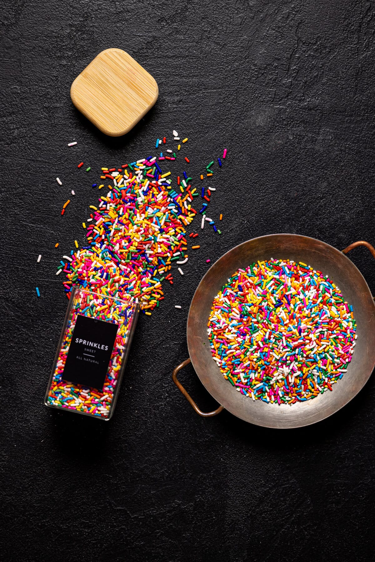
[[155,79],[121,49],[106,49],[70,88],[75,107],[103,133],[128,133],[157,100]]

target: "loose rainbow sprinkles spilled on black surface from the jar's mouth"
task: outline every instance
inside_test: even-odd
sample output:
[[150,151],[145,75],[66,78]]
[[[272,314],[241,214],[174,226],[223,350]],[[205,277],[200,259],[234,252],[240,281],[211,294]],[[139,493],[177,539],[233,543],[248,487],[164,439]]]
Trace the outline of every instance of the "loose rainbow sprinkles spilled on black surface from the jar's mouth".
[[[157,139],[156,146],[161,142],[164,146],[166,138]],[[66,274],[68,297],[73,286],[80,285],[98,294],[134,299],[147,315],[164,299],[161,283],[166,280],[173,284],[173,262],[184,264],[188,260],[186,227],[198,213],[205,219],[207,209],[207,203],[199,210],[194,208],[200,193],[192,187],[186,171],[177,176],[175,187],[171,172],[162,172],[159,161],[176,158],[175,152],[169,153],[140,158],[119,168],[102,167],[101,180],[106,181],[108,191],[98,205],[89,206],[92,212],[83,223],[87,246],[72,250],[70,257],[63,256],[66,261],[61,260],[57,269],[56,275],[61,271]],[[211,170],[213,164],[210,162],[207,169]],[[103,187],[101,184],[98,188]],[[207,193],[211,194],[210,188]],[[206,200],[210,201],[208,197]],[[213,220],[206,220],[214,232],[220,233]],[[193,238],[197,236],[193,234]],[[200,245],[191,248],[197,250]]]

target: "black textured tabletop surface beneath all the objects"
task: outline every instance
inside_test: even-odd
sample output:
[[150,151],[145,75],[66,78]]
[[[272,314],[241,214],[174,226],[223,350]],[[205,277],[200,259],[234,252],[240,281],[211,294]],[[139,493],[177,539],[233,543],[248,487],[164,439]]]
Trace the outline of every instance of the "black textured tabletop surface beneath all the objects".
[[[284,432],[225,412],[199,418],[171,371],[188,355],[207,257],[274,232],[340,249],[375,242],[374,2],[13,0],[0,19],[1,558],[372,560],[373,378],[332,418]],[[107,47],[128,51],[160,90],[118,139],[69,96]],[[47,409],[67,306],[56,264],[84,241],[91,183],[174,128],[189,137],[195,178],[228,148],[211,183],[223,234],[205,229],[159,311],[140,317],[109,423]],[[372,257],[351,259],[375,291]],[[180,378],[202,409],[215,405],[191,368]]]

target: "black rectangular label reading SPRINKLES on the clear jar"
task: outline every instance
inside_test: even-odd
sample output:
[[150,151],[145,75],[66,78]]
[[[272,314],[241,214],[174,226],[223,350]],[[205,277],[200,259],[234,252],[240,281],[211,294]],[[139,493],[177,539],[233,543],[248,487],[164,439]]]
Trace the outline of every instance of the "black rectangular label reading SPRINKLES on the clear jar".
[[118,324],[77,316],[62,378],[102,390]]

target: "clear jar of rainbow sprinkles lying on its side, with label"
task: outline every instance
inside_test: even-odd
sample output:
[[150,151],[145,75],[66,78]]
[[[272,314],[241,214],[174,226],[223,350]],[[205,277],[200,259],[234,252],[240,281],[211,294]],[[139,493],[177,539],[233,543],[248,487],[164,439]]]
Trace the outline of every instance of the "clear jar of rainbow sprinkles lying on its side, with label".
[[74,287],[44,404],[109,420],[139,305]]

